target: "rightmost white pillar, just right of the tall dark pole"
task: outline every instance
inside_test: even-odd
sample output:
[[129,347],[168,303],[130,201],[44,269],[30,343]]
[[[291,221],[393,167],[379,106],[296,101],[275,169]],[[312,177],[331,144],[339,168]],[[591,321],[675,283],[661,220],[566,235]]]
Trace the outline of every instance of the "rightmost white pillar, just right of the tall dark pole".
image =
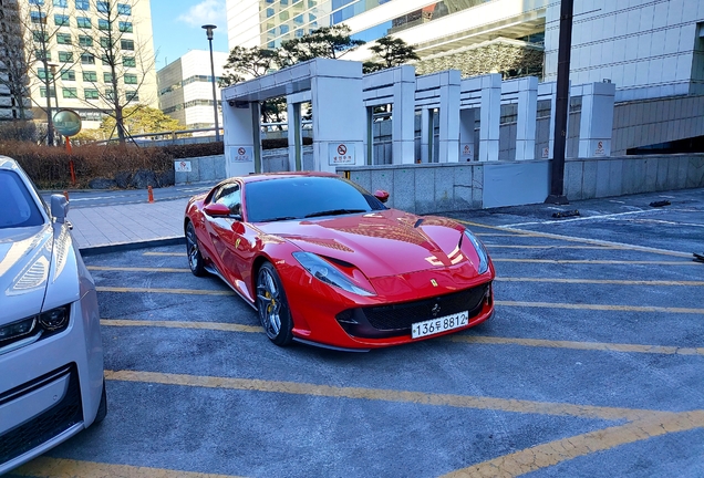
[[613,83],[591,83],[582,86],[579,157],[611,156],[614,97]]

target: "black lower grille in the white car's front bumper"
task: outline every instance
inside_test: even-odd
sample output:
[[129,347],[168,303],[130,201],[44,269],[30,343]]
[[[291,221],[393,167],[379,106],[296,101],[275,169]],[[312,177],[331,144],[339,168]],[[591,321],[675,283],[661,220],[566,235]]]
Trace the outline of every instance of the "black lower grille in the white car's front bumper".
[[83,420],[81,387],[75,364],[58,368],[0,395],[0,405],[2,405],[20,399],[23,395],[66,375],[70,375],[69,388],[61,402],[41,415],[0,435],[0,463],[7,463],[37,448]]

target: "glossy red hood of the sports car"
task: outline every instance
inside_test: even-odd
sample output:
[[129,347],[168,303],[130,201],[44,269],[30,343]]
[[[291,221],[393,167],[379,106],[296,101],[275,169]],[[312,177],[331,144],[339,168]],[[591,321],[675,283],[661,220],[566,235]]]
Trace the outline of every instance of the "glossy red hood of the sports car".
[[396,209],[258,226],[304,251],[351,262],[370,279],[466,260],[458,249],[463,226]]

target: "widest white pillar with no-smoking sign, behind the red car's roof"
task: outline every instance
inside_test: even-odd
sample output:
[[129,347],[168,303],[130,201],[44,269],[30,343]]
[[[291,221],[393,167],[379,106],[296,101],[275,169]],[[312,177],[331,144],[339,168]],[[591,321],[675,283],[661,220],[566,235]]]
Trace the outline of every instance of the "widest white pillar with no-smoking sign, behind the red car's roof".
[[335,173],[345,165],[364,165],[362,64],[317,59],[310,71],[314,169]]

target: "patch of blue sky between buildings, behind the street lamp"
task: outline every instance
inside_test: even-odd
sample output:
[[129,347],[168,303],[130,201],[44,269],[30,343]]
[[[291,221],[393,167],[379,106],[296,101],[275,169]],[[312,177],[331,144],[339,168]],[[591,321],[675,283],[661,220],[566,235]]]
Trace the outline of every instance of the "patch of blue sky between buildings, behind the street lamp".
[[217,25],[213,51],[228,51],[225,0],[152,0],[151,4],[157,70],[189,50],[208,50],[204,24]]

